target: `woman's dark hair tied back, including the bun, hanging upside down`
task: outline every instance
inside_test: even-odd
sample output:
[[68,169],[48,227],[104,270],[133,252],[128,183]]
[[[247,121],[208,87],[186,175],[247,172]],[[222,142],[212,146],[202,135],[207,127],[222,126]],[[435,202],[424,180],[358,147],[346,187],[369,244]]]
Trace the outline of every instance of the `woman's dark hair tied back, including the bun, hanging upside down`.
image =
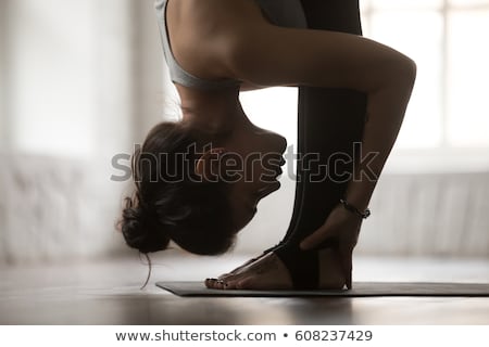
[[120,221],[128,246],[143,254],[170,241],[201,255],[222,254],[235,241],[227,187],[195,171],[203,146],[181,123],[161,123],[135,151],[136,190],[125,198]]

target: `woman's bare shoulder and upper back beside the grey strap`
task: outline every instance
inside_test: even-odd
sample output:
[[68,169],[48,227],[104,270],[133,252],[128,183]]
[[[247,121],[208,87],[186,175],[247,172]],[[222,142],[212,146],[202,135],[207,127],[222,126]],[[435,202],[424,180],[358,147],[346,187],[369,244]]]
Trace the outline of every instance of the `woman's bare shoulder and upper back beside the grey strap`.
[[178,63],[211,79],[235,77],[235,66],[252,54],[253,38],[272,26],[251,0],[170,0],[166,15]]

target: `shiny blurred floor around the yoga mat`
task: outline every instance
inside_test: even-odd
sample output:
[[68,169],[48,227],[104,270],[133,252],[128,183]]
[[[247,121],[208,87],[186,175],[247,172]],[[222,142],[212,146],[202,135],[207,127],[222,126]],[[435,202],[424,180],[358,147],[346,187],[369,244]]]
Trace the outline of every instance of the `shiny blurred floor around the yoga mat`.
[[[181,298],[160,280],[199,280],[246,257],[159,256],[0,268],[0,324],[489,324],[489,298]],[[359,281],[489,283],[489,261],[356,258]]]

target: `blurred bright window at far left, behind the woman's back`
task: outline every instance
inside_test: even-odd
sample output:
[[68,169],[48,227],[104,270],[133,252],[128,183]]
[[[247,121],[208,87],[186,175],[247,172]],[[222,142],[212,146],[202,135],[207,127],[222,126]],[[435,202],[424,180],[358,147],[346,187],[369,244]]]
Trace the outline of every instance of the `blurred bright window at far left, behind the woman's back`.
[[[91,151],[96,94],[87,1],[9,1],[5,126],[21,152],[83,155]],[[74,22],[76,24],[74,24]]]

